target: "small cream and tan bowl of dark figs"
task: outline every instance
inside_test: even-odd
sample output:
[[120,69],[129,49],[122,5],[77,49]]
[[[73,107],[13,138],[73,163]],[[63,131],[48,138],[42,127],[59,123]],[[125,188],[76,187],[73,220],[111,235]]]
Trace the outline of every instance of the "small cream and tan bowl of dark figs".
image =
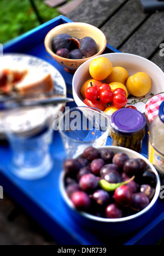
[[83,23],[69,22],[52,28],[44,40],[46,51],[63,66],[74,73],[77,68],[93,56],[106,49],[107,39],[99,28]]

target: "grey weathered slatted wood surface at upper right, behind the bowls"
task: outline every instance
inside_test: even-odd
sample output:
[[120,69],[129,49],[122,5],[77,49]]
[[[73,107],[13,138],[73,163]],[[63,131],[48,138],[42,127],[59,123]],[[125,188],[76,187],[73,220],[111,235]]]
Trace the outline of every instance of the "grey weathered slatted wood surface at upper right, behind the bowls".
[[164,11],[144,13],[137,0],[84,0],[67,18],[98,27],[108,44],[151,60],[164,72]]

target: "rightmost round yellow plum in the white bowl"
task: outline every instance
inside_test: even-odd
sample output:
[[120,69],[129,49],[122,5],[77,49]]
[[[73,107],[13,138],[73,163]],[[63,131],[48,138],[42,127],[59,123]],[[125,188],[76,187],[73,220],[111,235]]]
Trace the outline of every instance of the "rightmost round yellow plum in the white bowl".
[[136,97],[148,94],[151,89],[151,79],[148,74],[138,72],[127,79],[127,90]]

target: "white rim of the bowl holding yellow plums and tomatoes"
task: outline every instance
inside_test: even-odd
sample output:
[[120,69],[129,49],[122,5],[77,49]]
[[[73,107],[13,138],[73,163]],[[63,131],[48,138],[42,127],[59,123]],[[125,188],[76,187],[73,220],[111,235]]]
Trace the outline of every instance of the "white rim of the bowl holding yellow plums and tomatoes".
[[[130,56],[130,57],[135,57],[136,60],[144,60],[147,63],[151,63],[151,65],[153,65],[155,68],[158,69],[158,71],[161,73],[161,75],[163,76],[163,80],[164,80],[164,72],[162,71],[162,69],[157,66],[153,61],[150,61],[148,59],[146,59],[145,57],[139,56],[139,55],[135,55],[135,54],[130,54],[130,53],[107,53],[107,54],[101,54],[98,56],[92,56],[92,58],[90,60],[85,61],[84,63],[82,63],[80,65],[80,67],[78,67],[78,69],[75,71],[74,75],[73,75],[73,79],[72,79],[72,93],[73,93],[73,98],[75,103],[77,103],[77,100],[79,100],[79,103],[77,103],[78,106],[87,106],[82,100],[81,98],[78,96],[77,92],[75,91],[75,77],[77,76],[78,72],[81,71],[81,69],[83,69],[84,65],[87,65],[87,63],[89,63],[90,61],[92,61],[93,59],[97,59],[98,57],[106,57],[106,56]],[[142,112],[144,113],[144,112]]]

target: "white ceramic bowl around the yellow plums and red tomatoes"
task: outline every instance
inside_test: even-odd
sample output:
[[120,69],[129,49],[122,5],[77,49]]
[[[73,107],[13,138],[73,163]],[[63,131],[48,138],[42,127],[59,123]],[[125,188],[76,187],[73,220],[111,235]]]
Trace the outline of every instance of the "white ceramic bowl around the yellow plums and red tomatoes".
[[[92,59],[86,61],[83,63],[77,71],[74,73],[73,76],[73,97],[75,102],[78,106],[86,106],[85,103],[83,103],[83,96],[80,94],[80,88],[81,85],[83,85],[86,80],[91,79],[91,75],[89,73],[89,65],[93,59],[96,59],[97,57],[104,56],[109,59],[113,67],[121,66],[127,69],[129,75],[133,75],[137,72],[145,72],[149,75],[151,78],[152,86],[150,92],[145,95],[145,97],[149,97],[149,94],[153,92],[153,94],[159,94],[160,92],[164,91],[164,73],[163,71],[155,65],[155,63],[140,57],[138,55],[133,54],[127,54],[127,53],[109,53],[109,54],[103,54],[96,57],[92,57]],[[136,100],[139,100],[140,98],[136,98]],[[128,99],[128,102],[131,102],[132,99]],[[145,103],[138,102],[135,104],[137,109],[141,113],[145,113]]]

